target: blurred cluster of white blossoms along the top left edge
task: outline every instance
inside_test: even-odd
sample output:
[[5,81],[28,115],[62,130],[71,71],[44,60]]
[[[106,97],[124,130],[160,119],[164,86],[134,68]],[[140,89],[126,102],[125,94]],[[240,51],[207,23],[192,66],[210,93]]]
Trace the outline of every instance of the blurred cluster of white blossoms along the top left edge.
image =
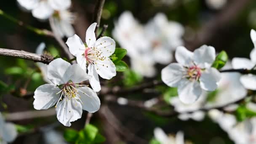
[[74,14],[68,9],[71,7],[71,0],[17,0],[22,9],[32,11],[32,15],[40,20],[53,17],[56,32],[60,37],[71,37],[75,34],[72,23],[75,20]]

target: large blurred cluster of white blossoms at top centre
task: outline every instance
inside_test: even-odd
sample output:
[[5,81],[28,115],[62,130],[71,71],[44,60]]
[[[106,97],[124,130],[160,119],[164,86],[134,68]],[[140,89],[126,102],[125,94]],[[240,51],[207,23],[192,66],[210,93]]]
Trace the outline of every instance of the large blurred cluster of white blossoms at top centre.
[[156,63],[168,64],[173,60],[172,52],[183,45],[184,27],[175,21],[168,21],[163,13],[150,20],[145,26],[125,11],[115,21],[113,37],[121,47],[127,49],[131,68],[145,77],[156,75]]

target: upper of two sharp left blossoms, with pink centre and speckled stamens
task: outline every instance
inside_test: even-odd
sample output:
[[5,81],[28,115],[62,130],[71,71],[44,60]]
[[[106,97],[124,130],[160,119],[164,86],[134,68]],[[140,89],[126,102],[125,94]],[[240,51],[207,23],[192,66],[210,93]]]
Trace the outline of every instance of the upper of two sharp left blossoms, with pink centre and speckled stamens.
[[116,75],[116,67],[109,59],[109,56],[115,52],[115,41],[110,37],[101,37],[96,40],[94,33],[96,25],[96,23],[91,24],[86,31],[87,47],[77,35],[69,37],[67,45],[83,70],[86,71],[88,64],[88,75],[92,76],[89,82],[93,90],[98,92],[101,90],[99,75],[109,80]]

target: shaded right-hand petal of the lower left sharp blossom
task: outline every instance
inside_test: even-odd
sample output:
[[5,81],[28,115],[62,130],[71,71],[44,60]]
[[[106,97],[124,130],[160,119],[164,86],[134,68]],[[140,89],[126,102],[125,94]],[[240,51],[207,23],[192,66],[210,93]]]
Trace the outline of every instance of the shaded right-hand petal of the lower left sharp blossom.
[[[88,112],[97,112],[101,106],[101,101],[97,96],[97,93],[87,86],[78,88],[79,95],[81,96],[82,108]],[[83,93],[82,93],[82,92]]]

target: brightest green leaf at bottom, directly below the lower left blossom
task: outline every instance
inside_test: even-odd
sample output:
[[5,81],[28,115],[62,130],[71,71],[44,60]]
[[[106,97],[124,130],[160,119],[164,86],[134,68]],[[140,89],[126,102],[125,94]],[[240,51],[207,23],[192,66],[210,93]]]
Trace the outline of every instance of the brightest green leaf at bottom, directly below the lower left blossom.
[[96,128],[94,125],[88,124],[85,126],[83,132],[86,141],[94,141],[98,133],[98,128]]

